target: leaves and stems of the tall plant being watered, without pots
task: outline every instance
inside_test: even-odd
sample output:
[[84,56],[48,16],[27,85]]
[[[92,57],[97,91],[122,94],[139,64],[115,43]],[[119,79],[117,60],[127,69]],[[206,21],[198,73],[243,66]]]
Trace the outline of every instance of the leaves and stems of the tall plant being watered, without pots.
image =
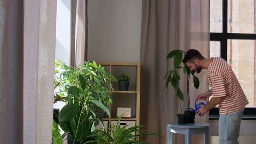
[[[168,53],[167,59],[171,59],[174,57],[174,69],[171,69],[168,71],[164,77],[166,79],[166,84],[164,88],[168,88],[169,83],[171,82],[171,85],[174,87],[175,90],[177,90],[177,97],[179,98],[180,101],[180,106],[181,106],[181,101],[184,101],[184,94],[181,91],[181,88],[179,87],[179,81],[181,79],[180,75],[178,74],[178,69],[182,69],[181,62],[183,59],[183,54],[185,55],[186,52],[183,50],[173,50]],[[183,65],[183,72],[187,76],[187,99],[188,103],[187,106],[190,108],[190,94],[189,94],[189,82],[190,82],[190,75],[193,75],[193,82],[194,82],[194,87],[198,88],[200,85],[199,79],[197,76],[194,75],[195,71],[191,71],[187,65]],[[181,107],[181,113],[182,107]]]

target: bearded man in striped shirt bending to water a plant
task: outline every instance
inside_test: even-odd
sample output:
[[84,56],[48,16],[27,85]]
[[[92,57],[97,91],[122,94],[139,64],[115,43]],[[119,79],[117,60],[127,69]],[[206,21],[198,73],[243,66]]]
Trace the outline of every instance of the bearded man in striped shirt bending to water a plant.
[[249,102],[230,66],[220,57],[206,59],[196,49],[188,50],[182,62],[197,73],[207,69],[211,89],[197,99],[207,99],[211,95],[213,98],[206,106],[200,105],[197,115],[205,115],[219,105],[219,144],[238,144],[243,110]]

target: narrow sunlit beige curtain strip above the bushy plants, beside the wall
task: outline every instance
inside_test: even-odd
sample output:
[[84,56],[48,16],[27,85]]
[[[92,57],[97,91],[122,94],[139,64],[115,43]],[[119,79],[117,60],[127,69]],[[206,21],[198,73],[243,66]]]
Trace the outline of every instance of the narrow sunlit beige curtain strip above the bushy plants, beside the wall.
[[[75,65],[83,64],[87,60],[87,0],[77,0],[77,32],[75,46]],[[72,48],[72,47],[71,47]]]

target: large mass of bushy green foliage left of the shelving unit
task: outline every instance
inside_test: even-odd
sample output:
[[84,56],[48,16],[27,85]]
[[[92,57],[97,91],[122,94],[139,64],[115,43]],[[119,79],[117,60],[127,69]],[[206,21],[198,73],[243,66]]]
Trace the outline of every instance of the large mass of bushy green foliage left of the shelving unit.
[[[60,74],[67,87],[67,105],[59,112],[59,125],[65,132],[70,132],[74,144],[85,143],[95,131],[95,125],[102,123],[102,118],[95,114],[101,108],[110,116],[108,104],[112,103],[109,88],[115,91],[110,81],[117,82],[104,67],[85,62],[80,68],[72,68],[65,63],[57,62],[64,70]],[[98,118],[96,122],[95,118]]]

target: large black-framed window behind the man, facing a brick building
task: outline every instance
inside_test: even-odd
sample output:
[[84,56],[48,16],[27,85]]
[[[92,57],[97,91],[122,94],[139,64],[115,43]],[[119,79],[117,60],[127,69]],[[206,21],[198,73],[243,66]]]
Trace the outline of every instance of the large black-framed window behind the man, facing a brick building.
[[210,0],[210,57],[216,56],[228,62],[249,100],[244,114],[255,115],[256,0]]

